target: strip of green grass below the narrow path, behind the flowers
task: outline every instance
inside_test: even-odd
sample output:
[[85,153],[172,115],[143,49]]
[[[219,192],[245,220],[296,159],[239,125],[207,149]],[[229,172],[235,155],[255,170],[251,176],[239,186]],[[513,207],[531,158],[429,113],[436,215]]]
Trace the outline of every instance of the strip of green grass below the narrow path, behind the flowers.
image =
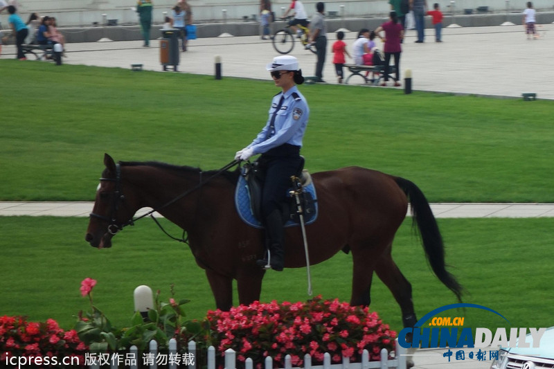
[[[554,258],[551,219],[439,219],[447,245],[447,262],[464,285],[465,303],[484,305],[506,316],[512,327],[552,325],[548,270]],[[0,314],[22,314],[33,321],[55,318],[73,325],[88,308],[80,281],[98,280],[95,305],[118,327],[132,316],[132,292],[138,285],[161,290],[164,300],[175,284],[177,298],[188,298],[189,318],[202,318],[215,303],[202,269],[188,247],[164,236],[150,221],[125,228],[112,249],[94,249],[83,240],[84,218],[0,217]],[[32,230],[32,231],[30,231]],[[411,281],[418,317],[456,303],[454,295],[432,275],[411,222],[400,228],[395,260]],[[350,299],[351,256],[339,253],[312,267],[314,294]],[[305,269],[268,272],[262,301],[306,300]],[[400,308],[375,278],[372,305],[386,323],[400,330]],[[237,297],[235,294],[235,303]],[[451,311],[465,316],[464,327],[506,327],[499,316],[479,309]]]

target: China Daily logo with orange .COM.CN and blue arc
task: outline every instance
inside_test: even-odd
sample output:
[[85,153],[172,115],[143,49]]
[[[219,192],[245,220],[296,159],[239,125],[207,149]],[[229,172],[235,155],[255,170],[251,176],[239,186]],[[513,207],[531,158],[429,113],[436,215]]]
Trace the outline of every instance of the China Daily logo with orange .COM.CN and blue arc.
[[[443,356],[448,357],[448,361],[453,355],[453,359],[463,360],[467,355],[470,359],[492,360],[497,359],[499,347],[539,348],[542,336],[546,332],[546,328],[536,327],[498,327],[496,330],[477,327],[475,332],[472,332],[472,328],[463,327],[463,316],[436,316],[447,310],[459,308],[483,309],[500,316],[506,321],[506,325],[510,325],[507,318],[489,307],[468,303],[445,305],[425,314],[413,328],[401,330],[398,343],[403,348],[444,348]],[[463,348],[466,350],[458,350],[455,354],[452,352],[452,349]],[[476,350],[467,352],[467,348]],[[522,368],[533,369],[533,366],[526,367],[526,364],[524,363]]]

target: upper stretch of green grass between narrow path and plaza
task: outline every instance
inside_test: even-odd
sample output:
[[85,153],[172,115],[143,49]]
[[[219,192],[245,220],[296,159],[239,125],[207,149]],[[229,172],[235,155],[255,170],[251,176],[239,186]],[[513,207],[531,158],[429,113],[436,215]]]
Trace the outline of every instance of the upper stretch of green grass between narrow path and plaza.
[[[104,152],[217,169],[267,120],[269,81],[0,60],[0,200],[92,200]],[[312,172],[361,165],[430,201],[553,202],[554,102],[303,85]]]

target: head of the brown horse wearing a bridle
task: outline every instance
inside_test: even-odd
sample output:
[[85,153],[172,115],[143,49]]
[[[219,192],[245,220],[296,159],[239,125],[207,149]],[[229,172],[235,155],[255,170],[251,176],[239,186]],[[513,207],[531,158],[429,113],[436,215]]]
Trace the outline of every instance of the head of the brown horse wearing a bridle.
[[[91,246],[102,249],[111,247],[111,237],[114,237],[124,226],[132,224],[135,206],[129,204],[129,199],[123,192],[120,165],[105,154],[105,170],[96,190],[94,207],[90,214],[89,228],[84,237]],[[130,201],[133,202],[133,201]]]

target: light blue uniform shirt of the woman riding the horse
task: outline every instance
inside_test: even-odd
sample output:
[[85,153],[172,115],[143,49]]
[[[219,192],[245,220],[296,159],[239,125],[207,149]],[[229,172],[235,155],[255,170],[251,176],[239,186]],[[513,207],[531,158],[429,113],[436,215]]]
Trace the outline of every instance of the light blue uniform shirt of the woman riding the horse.
[[[293,94],[295,96],[293,96]],[[274,147],[289,143],[290,145],[302,146],[302,138],[306,131],[307,120],[310,117],[310,108],[307,106],[306,99],[298,91],[296,86],[287,91],[285,100],[280,107],[275,118],[275,134],[267,138],[269,126],[271,125],[271,116],[276,111],[279,100],[283,93],[278,93],[271,101],[269,109],[269,118],[262,129],[262,132],[254,138],[254,141],[248,147],[253,149],[253,154],[263,154]]]

